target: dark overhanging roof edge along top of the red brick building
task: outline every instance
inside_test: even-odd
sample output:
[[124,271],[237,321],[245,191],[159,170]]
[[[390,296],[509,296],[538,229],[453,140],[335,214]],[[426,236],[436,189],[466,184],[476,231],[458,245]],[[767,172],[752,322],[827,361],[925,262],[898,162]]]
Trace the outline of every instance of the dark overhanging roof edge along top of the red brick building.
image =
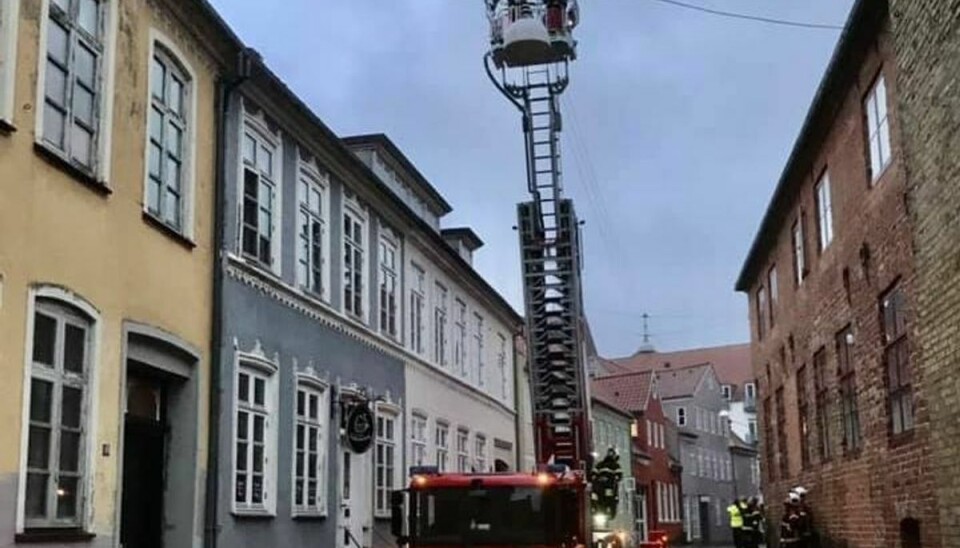
[[805,179],[805,176],[798,176],[798,174],[804,175],[810,169],[805,154],[819,144],[823,126],[833,123],[833,115],[842,103],[843,92],[851,85],[856,75],[856,71],[851,68],[861,61],[867,44],[886,17],[887,10],[887,0],[856,0],[814,95],[810,110],[807,111],[800,134],[773,191],[767,211],[750,245],[750,251],[744,259],[735,285],[737,291],[750,289],[755,273],[763,266],[761,259],[764,252],[776,243],[777,228],[787,214],[784,209],[792,204],[800,184]]

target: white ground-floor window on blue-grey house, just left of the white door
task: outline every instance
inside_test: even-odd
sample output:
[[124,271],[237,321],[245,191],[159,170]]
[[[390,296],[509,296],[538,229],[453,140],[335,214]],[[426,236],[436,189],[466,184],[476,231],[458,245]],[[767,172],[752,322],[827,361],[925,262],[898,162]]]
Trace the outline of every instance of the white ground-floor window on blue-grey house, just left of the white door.
[[[256,381],[255,381],[256,382]],[[327,512],[326,387],[301,380],[297,386],[293,447],[293,512]]]

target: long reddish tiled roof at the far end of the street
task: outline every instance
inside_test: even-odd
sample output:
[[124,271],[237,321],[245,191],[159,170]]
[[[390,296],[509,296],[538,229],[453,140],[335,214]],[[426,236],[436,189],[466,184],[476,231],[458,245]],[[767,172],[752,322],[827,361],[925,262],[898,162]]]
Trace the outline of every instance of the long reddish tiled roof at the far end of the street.
[[[754,379],[750,345],[731,344],[676,352],[637,352],[606,360],[619,371],[664,371],[669,368],[710,364],[721,384],[743,386]],[[669,366],[667,365],[669,364]]]

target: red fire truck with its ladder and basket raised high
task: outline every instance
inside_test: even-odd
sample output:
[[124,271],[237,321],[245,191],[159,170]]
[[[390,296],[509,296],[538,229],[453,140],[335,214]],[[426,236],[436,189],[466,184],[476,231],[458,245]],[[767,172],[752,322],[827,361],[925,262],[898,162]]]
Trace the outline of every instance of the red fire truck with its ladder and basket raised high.
[[579,9],[576,0],[486,0],[486,8],[485,68],[523,122],[530,199],[517,207],[517,230],[539,464],[527,473],[413,467],[409,486],[392,496],[393,533],[412,548],[623,546],[627,533],[608,526],[619,486],[591,485],[580,223],[560,164],[559,99],[576,59]]

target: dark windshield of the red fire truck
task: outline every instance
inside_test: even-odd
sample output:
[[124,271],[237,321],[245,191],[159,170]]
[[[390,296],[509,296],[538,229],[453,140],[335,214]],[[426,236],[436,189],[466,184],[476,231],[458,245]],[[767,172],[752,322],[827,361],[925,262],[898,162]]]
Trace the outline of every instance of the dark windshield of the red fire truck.
[[416,545],[557,544],[576,534],[576,496],[537,487],[417,491]]

